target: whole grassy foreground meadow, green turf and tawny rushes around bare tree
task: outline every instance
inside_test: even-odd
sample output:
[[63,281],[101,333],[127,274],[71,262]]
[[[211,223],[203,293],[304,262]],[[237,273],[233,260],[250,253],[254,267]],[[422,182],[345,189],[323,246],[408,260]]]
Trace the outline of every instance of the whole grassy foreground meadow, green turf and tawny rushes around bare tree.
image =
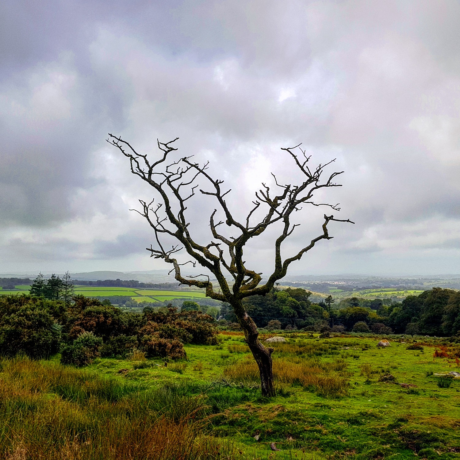
[[270,345],[274,398],[261,397],[240,333],[184,345],[178,362],[135,352],[81,370],[58,357],[3,359],[0,458],[460,458],[460,380],[434,375],[460,371],[449,347],[284,336]]

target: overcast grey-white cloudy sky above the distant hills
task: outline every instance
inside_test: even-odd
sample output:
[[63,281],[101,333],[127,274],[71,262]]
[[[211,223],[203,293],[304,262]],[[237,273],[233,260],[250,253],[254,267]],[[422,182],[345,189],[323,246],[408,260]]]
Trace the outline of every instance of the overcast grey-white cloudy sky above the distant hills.
[[[460,273],[459,1],[0,3],[0,272],[152,270],[151,190],[105,142],[156,138],[210,161],[235,213],[281,147],[337,158],[343,187],[322,241],[291,274]],[[214,204],[188,217],[209,242]],[[302,209],[284,254],[321,234]],[[247,248],[267,273],[268,233]]]

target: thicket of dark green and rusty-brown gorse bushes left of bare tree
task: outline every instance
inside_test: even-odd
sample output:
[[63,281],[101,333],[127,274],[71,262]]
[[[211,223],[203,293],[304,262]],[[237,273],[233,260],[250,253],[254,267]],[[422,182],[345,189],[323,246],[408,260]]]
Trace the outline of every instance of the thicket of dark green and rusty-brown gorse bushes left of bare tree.
[[0,296],[0,355],[46,358],[61,349],[63,363],[86,366],[99,356],[125,358],[134,349],[180,359],[184,343],[218,343],[213,317],[201,311],[149,307],[139,314],[83,295],[73,300]]

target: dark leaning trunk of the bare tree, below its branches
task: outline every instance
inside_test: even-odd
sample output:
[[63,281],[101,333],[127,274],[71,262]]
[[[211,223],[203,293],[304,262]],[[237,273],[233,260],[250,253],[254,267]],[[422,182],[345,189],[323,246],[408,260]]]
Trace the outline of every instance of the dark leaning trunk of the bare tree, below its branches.
[[233,311],[238,318],[238,322],[244,331],[247,345],[251,350],[254,359],[259,366],[260,373],[260,386],[262,390],[262,396],[275,396],[275,386],[273,385],[273,361],[271,359],[271,353],[273,348],[267,348],[260,343],[259,330],[253,319],[245,311],[242,302],[239,305],[232,305]]

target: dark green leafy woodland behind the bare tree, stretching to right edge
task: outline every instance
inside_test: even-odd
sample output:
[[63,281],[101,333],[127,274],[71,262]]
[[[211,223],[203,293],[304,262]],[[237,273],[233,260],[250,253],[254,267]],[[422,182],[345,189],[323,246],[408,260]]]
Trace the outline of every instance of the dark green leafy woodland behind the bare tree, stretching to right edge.
[[[337,308],[330,295],[320,303],[312,303],[310,296],[302,288],[274,288],[265,296],[247,297],[244,306],[259,328],[437,336],[460,330],[460,292],[453,289],[432,288],[402,302],[351,297]],[[220,312],[226,321],[237,321],[229,304]]]

